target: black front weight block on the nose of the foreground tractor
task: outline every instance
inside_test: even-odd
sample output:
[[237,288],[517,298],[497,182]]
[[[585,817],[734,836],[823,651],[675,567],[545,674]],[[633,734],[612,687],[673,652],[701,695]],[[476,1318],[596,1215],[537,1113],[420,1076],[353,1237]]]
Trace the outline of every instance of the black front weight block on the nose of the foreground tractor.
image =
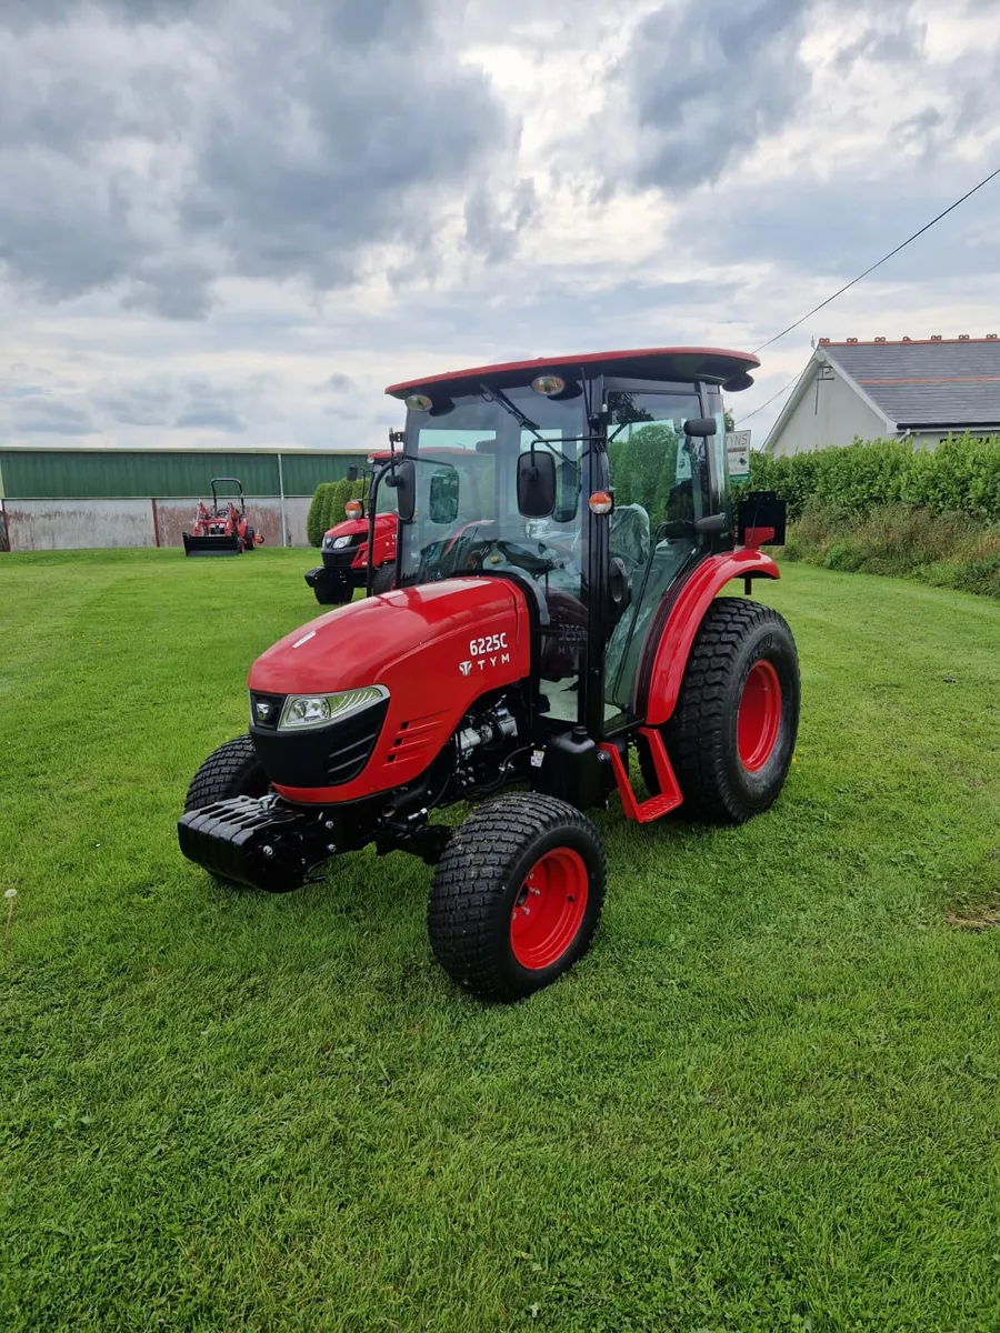
[[287,893],[340,850],[336,822],[327,810],[303,810],[279,797],[235,796],[177,822],[180,849],[189,861],[233,884]]

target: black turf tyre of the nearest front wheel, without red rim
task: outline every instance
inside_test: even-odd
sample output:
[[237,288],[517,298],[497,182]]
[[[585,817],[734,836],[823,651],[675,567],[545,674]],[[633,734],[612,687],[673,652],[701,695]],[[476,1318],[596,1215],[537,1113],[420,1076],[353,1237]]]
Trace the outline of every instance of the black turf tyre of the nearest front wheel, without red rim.
[[[528,870],[545,850],[560,845],[573,846],[584,858],[587,910],[560,958],[531,970],[511,950],[511,912]],[[484,1000],[521,1000],[587,953],[605,884],[600,834],[575,806],[549,796],[501,796],[459,825],[437,864],[427,910],[431,948],[453,981]]]

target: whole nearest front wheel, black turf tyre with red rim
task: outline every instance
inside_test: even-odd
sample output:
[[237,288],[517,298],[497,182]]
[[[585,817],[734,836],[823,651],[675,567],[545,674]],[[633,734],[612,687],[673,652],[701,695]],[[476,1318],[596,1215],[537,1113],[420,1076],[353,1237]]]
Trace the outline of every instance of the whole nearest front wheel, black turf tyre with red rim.
[[427,910],[433,954],[484,1000],[523,1000],[587,953],[605,880],[600,836],[577,809],[501,796],[455,830],[437,865]]

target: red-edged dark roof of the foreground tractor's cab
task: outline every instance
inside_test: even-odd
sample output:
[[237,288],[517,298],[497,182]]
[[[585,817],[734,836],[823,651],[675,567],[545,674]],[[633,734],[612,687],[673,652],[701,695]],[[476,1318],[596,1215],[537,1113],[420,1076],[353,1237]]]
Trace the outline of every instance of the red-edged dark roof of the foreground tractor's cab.
[[753,383],[749,372],[760,365],[748,352],[727,352],[713,347],[653,347],[632,352],[587,352],[583,356],[536,357],[533,361],[504,361],[497,365],[476,365],[467,371],[447,371],[420,380],[391,384],[385,392],[395,399],[411,393],[431,393],[445,388],[449,395],[476,393],[484,384],[507,389],[531,384],[541,375],[563,379],[587,379],[612,375],[629,380],[660,380],[689,383],[707,380],[720,384],[729,393],[747,389]]

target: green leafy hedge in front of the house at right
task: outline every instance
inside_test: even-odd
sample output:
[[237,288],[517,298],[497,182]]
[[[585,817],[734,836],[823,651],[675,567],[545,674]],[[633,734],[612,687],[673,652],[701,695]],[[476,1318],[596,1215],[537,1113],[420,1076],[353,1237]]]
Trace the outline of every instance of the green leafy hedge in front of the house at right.
[[855,440],[788,459],[755,453],[755,489],[776,491],[789,519],[821,508],[863,519],[881,505],[964,513],[1000,523],[1000,437],[952,436],[936,449],[899,440]]

